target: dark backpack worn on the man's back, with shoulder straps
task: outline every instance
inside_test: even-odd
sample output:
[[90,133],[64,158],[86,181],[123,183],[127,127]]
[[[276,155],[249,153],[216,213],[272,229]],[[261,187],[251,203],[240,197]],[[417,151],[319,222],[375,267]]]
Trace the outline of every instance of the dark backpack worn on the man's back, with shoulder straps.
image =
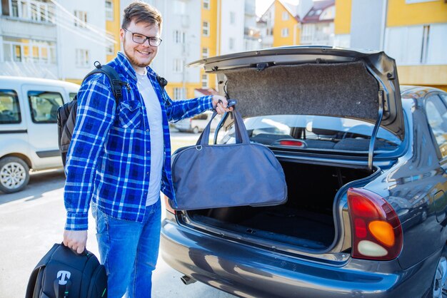
[[[87,73],[83,82],[86,80],[86,78],[89,78],[89,76],[94,75],[95,73],[104,73],[107,78],[109,78],[109,81],[111,83],[111,91],[112,93],[114,93],[116,106],[118,106],[119,101],[121,101],[121,98],[123,97],[121,87],[126,86],[127,90],[129,90],[129,84],[121,81],[121,79],[119,78],[119,74],[113,67],[108,65],[101,65],[101,63],[99,63],[98,61],[94,63],[94,66],[96,68],[93,71]],[[160,76],[157,76],[157,81],[159,81],[162,90],[164,90],[164,87],[168,84],[168,81],[166,81],[165,78],[161,78]],[[78,96],[76,95],[73,101],[65,103],[57,110],[58,143],[59,150],[61,151],[62,163],[64,163],[64,168],[66,163],[66,154],[69,151],[70,141],[73,137],[74,125],[76,123],[76,111],[78,108],[77,98]],[[167,106],[171,104],[166,99],[164,100],[164,103]]]

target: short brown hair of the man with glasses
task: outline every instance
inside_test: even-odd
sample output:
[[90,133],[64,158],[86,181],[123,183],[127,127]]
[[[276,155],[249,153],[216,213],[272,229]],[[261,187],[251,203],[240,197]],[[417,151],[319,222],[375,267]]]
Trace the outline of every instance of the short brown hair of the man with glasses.
[[131,24],[132,20],[135,21],[135,24],[144,22],[151,25],[158,25],[160,30],[161,23],[163,22],[160,11],[143,1],[134,1],[124,9],[123,24],[121,24],[121,28],[127,29],[127,26]]

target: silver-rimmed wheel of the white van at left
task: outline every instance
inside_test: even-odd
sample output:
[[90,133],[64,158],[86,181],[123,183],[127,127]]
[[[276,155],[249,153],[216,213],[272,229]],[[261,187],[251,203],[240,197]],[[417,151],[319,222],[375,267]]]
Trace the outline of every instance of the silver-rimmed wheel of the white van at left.
[[5,193],[23,190],[29,182],[29,167],[15,157],[0,160],[0,190]]

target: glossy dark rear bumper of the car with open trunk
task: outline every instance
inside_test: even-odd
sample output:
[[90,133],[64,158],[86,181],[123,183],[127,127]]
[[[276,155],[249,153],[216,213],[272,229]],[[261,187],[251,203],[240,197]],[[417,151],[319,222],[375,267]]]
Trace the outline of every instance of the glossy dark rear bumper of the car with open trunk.
[[[164,220],[161,255],[174,269],[239,297],[423,297],[438,256],[323,264],[222,239]],[[433,260],[430,260],[430,259]]]

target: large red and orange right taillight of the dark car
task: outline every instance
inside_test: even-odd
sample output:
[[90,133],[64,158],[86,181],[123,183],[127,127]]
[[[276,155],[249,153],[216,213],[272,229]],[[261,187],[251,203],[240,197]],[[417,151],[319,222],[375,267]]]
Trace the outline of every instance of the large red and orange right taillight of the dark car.
[[348,207],[351,217],[352,257],[393,260],[402,250],[401,221],[393,207],[369,190],[350,188]]

